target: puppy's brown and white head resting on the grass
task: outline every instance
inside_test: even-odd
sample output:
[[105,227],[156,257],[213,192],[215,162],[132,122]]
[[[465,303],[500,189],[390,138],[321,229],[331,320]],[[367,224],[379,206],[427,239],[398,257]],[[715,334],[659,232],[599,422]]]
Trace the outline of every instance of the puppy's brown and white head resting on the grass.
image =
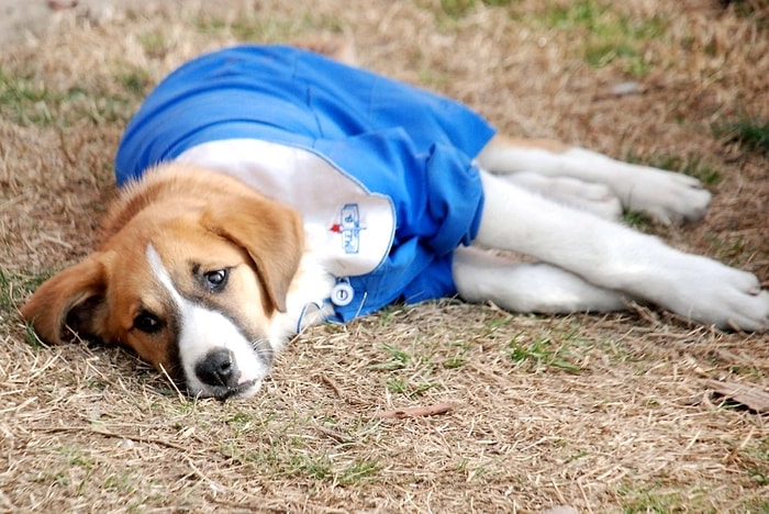
[[301,260],[299,214],[219,174],[166,170],[129,188],[107,231],[22,308],[38,336],[130,347],[191,395],[254,394],[287,336],[275,319]]

